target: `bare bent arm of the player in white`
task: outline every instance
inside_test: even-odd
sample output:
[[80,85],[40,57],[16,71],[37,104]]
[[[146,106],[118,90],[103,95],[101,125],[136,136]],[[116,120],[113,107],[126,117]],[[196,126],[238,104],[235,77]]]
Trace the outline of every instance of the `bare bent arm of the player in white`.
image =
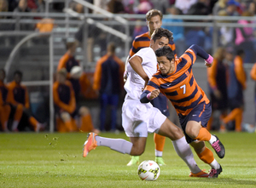
[[145,83],[148,83],[149,77],[147,73],[143,69],[143,59],[140,56],[133,56],[130,60],[129,63],[131,65],[131,68],[136,71],[136,73],[143,78]]

